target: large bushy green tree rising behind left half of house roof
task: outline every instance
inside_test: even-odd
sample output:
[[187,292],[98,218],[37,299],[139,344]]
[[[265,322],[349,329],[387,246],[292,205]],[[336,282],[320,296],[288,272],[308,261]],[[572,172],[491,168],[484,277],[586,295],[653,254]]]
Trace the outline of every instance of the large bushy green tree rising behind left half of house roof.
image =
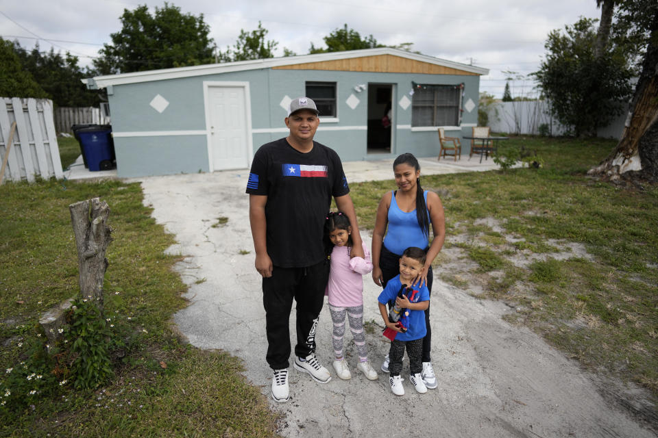
[[183,14],[165,2],[151,15],[147,5],[123,10],[121,31],[103,44],[94,66],[101,75],[210,64],[215,60],[204,15]]

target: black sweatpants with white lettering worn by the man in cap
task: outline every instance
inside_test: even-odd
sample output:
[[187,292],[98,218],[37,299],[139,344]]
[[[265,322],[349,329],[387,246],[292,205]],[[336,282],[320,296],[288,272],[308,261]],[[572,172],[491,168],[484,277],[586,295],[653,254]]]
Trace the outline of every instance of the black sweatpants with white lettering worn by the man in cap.
[[293,298],[297,302],[297,345],[295,355],[315,352],[315,330],[324,302],[329,263],[321,261],[305,268],[274,266],[272,276],[263,278],[263,307],[267,331],[267,363],[273,370],[288,368],[290,357],[289,320]]

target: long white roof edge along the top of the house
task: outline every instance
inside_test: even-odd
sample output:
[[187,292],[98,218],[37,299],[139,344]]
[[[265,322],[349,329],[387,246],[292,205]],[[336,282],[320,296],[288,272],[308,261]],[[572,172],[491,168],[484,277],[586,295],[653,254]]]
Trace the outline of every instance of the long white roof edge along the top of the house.
[[437,57],[419,55],[391,47],[380,47],[378,49],[363,49],[344,52],[315,53],[313,55],[298,55],[287,57],[273,57],[265,60],[225,62],[222,64],[204,64],[202,66],[163,68],[161,70],[138,71],[134,73],[121,73],[119,75],[97,76],[82,79],[90,90],[106,88],[107,86],[124,85],[127,83],[140,83],[150,81],[162,81],[166,79],[178,79],[181,77],[193,77],[204,75],[217,75],[219,73],[231,73],[236,71],[258,70],[261,68],[272,68],[280,66],[291,66],[295,64],[306,64],[309,62],[324,62],[329,60],[346,60],[354,57],[366,57],[376,55],[394,55],[405,57],[410,60],[426,62],[457,70],[463,70],[476,75],[488,75],[489,69],[476,67],[459,62],[441,60]]

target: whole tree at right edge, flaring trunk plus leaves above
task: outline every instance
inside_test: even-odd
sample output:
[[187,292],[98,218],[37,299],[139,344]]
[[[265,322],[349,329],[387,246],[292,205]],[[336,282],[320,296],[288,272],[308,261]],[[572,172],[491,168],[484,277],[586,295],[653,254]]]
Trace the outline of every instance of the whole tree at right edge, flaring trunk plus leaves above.
[[658,3],[618,2],[615,40],[630,42],[642,60],[622,138],[589,175],[609,181],[658,182]]

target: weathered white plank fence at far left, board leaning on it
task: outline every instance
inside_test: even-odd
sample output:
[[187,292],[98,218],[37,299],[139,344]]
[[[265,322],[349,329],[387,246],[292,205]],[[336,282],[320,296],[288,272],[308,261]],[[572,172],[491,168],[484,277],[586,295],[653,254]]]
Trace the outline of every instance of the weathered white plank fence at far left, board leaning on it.
[[[7,154],[12,124],[16,129]],[[63,178],[60,149],[49,99],[0,97],[0,157],[8,155],[3,181]]]

